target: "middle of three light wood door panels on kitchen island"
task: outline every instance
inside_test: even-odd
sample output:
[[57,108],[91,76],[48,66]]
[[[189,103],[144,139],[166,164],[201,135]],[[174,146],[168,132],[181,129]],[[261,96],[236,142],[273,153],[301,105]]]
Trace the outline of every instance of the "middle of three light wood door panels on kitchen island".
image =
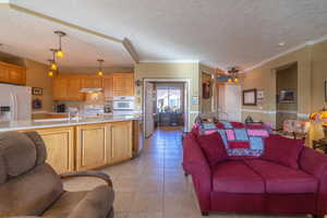
[[76,128],[76,170],[106,165],[106,125],[90,124]]

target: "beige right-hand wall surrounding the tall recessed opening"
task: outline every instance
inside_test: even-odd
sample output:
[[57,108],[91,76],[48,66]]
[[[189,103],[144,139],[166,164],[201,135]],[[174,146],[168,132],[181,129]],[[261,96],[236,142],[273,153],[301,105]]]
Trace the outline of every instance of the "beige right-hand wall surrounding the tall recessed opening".
[[[300,118],[305,118],[311,112],[324,107],[325,94],[324,82],[327,80],[327,41],[305,46],[294,52],[271,60],[256,69],[245,73],[242,88],[257,88],[265,92],[265,100],[262,107],[246,107],[243,109],[255,110],[243,111],[243,119],[251,114],[254,119],[274,122],[276,121],[276,72],[275,70],[298,63],[298,112]],[[313,124],[312,126],[316,126]],[[313,128],[312,137],[322,136],[322,130]]]

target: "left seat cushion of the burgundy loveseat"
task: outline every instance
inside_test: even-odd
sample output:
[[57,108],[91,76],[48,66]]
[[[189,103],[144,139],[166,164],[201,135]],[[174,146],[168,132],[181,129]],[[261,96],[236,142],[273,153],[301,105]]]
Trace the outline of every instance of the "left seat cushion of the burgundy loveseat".
[[229,160],[213,167],[213,189],[223,193],[265,193],[264,180],[243,160]]

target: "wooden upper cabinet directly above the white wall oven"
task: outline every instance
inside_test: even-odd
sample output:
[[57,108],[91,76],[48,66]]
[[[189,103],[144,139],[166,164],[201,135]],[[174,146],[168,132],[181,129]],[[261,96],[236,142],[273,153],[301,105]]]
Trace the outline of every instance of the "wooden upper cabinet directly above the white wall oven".
[[113,96],[134,96],[134,74],[113,74]]

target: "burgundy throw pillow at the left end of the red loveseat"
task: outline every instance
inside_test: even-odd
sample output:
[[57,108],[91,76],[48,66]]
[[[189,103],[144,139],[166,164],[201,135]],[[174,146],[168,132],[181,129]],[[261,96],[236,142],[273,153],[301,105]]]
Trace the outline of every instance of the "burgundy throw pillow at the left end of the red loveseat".
[[210,166],[225,161],[228,156],[218,132],[198,135],[198,143]]

